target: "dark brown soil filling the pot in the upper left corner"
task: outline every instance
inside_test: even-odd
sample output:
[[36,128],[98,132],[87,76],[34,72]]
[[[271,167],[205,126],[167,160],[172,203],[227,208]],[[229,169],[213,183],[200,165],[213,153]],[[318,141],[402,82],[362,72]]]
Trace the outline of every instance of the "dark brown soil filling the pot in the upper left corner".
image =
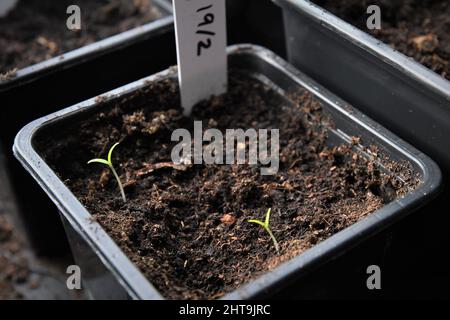
[[[66,27],[69,5],[81,9],[81,30]],[[151,0],[20,0],[0,18],[0,74],[49,59],[161,16]]]

